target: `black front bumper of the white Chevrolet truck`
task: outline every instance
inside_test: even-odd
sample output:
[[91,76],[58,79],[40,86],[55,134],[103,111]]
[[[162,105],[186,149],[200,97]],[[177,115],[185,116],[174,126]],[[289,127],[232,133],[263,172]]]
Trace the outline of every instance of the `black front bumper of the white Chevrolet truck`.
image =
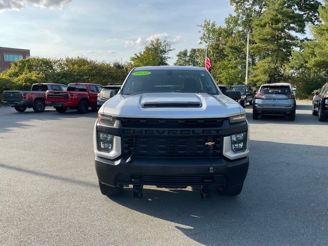
[[109,160],[95,157],[100,182],[109,186],[150,185],[185,187],[194,185],[236,186],[242,183],[249,168],[249,157],[238,160],[212,158],[142,158]]

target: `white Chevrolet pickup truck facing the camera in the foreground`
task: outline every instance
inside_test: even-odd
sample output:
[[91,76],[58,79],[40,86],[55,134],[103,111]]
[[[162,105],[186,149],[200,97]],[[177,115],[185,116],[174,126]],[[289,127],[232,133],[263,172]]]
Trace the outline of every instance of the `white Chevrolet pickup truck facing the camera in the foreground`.
[[111,197],[133,185],[141,198],[144,185],[200,186],[202,198],[211,187],[238,195],[249,167],[248,131],[244,109],[206,69],[134,68],[94,126],[100,191]]

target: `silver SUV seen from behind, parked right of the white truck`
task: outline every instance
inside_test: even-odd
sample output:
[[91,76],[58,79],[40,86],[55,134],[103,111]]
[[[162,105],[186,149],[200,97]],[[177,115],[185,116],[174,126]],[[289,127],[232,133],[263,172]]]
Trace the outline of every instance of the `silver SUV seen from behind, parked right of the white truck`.
[[293,87],[287,83],[262,85],[254,98],[253,119],[258,119],[261,114],[288,115],[289,120],[295,120]]

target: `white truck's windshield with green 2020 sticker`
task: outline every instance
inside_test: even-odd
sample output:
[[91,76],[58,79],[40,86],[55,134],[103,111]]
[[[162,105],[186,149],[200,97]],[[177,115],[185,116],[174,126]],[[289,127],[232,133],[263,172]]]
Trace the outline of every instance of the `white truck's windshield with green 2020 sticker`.
[[208,73],[199,70],[136,71],[130,74],[122,89],[123,95],[163,92],[218,94]]

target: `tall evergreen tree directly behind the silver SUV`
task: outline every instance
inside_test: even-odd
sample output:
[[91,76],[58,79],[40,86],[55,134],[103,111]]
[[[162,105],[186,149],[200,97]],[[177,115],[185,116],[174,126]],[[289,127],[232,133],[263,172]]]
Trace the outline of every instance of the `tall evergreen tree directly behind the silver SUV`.
[[272,2],[256,20],[251,49],[258,57],[250,81],[260,85],[284,78],[285,65],[298,45],[295,33],[304,33],[303,15],[288,8],[283,0]]

